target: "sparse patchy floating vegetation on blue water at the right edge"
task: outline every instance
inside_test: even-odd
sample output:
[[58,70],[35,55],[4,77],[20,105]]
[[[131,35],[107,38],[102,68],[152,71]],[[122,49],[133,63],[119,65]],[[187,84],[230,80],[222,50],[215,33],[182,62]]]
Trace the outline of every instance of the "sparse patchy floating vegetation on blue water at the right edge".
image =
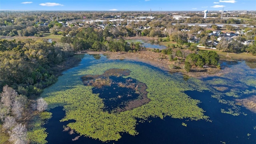
[[[239,77],[234,76],[234,71],[238,74],[241,74]],[[244,68],[238,67],[236,69],[232,69],[232,72],[224,74],[220,77],[212,78],[210,80],[206,80],[206,83],[211,86],[210,91],[213,93],[212,98],[216,98],[218,102],[222,104],[227,104],[231,106],[227,110],[221,109],[222,113],[232,114],[233,116],[238,116],[240,114],[246,115],[244,112],[240,111],[240,106],[244,106],[244,99],[230,99],[228,97],[233,98],[243,98],[249,94],[255,94],[255,89],[250,89],[249,86],[254,86],[255,76],[243,76],[243,73],[247,73]],[[253,74],[254,72],[248,72]],[[249,90],[248,90],[249,89]],[[225,93],[223,93],[225,92]]]

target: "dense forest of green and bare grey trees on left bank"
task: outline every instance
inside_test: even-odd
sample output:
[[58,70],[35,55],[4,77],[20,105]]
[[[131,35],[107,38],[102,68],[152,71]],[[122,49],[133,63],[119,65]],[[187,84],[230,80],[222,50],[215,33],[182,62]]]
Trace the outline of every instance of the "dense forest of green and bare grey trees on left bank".
[[[47,103],[38,98],[44,88],[73,64],[71,46],[44,40],[0,40],[0,124],[1,137],[11,142],[26,143],[28,122]],[[2,133],[3,132],[3,133]]]

